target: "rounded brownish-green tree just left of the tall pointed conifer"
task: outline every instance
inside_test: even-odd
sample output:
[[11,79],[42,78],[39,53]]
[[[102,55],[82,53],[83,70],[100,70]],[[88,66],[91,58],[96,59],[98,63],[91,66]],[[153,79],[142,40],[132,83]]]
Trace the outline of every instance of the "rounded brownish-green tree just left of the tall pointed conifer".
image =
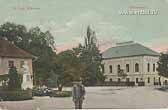
[[56,59],[56,65],[60,65],[57,70],[60,83],[68,85],[74,80],[79,80],[83,73],[83,67],[73,50],[59,53]]

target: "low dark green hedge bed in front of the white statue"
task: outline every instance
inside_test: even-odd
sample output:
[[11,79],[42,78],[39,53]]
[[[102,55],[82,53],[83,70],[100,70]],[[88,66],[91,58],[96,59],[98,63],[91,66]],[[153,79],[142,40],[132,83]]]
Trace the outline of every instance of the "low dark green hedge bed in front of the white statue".
[[0,98],[4,101],[21,101],[32,99],[32,90],[2,90]]

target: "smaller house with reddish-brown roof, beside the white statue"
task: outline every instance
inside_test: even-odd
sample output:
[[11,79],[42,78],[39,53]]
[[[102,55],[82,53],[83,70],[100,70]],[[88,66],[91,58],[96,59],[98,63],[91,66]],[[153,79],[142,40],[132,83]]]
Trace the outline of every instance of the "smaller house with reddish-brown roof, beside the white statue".
[[[1,75],[8,74],[9,68],[16,67],[18,73],[23,75],[22,88],[32,88],[32,59],[33,55],[0,37],[0,77]],[[2,85],[2,81],[0,85]]]

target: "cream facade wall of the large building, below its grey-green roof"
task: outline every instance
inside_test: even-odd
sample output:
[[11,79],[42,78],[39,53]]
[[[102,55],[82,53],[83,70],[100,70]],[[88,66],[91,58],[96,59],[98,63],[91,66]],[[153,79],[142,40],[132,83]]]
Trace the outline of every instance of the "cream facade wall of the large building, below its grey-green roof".
[[[105,76],[107,77],[105,81],[118,81],[120,78],[121,81],[126,81],[126,78],[129,78],[130,81],[136,82],[136,78],[138,81],[144,81],[145,85],[153,85],[154,81],[159,81],[159,75],[157,73],[157,62],[159,57],[153,56],[135,56],[135,57],[125,57],[125,58],[117,58],[117,59],[108,59],[103,60]],[[139,64],[139,72],[135,72],[135,64]],[[148,72],[148,63],[150,63],[150,72]],[[126,78],[119,77],[117,75],[117,65],[121,65],[121,69],[126,72],[126,64],[129,64],[129,72],[127,73]],[[155,64],[155,71],[153,71],[153,64]],[[112,65],[113,72],[110,73],[109,66]],[[148,82],[148,78],[150,81]],[[162,77],[160,78],[162,81]],[[163,81],[162,81],[163,82]]]

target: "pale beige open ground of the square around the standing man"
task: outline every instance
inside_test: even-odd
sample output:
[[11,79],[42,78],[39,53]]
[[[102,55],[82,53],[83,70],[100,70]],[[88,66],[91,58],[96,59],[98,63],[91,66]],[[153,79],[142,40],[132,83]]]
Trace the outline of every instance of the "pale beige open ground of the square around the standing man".
[[[70,90],[71,88],[64,88]],[[86,109],[168,108],[168,91],[157,87],[86,87],[83,103]],[[0,102],[0,110],[74,109],[72,97],[34,97],[27,101]]]

